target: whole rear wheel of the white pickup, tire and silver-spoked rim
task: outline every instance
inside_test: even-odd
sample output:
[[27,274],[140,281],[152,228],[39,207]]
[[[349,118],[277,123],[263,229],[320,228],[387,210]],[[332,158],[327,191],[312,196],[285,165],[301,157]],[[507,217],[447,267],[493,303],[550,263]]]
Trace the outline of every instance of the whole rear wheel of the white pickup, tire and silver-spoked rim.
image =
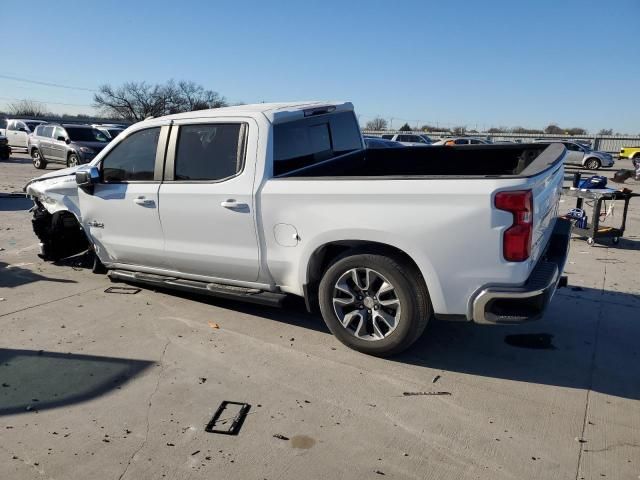
[[390,356],[407,349],[432,315],[422,276],[401,258],[347,254],[327,269],[318,293],[331,333],[370,355]]

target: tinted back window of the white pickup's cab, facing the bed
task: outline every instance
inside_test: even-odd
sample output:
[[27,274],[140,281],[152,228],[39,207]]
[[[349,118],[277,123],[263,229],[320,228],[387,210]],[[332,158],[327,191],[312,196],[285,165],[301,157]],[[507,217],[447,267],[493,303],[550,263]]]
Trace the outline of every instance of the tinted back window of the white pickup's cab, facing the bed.
[[276,176],[363,148],[353,112],[276,124],[273,141],[273,173]]

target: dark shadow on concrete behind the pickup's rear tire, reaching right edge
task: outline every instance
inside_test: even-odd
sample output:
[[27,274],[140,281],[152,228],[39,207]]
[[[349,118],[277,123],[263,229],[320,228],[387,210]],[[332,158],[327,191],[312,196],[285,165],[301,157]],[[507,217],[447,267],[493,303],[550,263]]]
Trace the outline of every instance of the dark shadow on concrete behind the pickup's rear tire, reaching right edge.
[[574,287],[519,326],[435,321],[392,361],[640,400],[640,296]]

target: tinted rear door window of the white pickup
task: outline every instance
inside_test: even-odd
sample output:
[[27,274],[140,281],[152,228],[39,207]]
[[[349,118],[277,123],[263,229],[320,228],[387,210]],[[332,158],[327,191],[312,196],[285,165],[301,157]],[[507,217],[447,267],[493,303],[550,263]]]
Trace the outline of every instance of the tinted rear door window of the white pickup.
[[219,181],[242,170],[243,125],[202,124],[180,127],[175,180]]

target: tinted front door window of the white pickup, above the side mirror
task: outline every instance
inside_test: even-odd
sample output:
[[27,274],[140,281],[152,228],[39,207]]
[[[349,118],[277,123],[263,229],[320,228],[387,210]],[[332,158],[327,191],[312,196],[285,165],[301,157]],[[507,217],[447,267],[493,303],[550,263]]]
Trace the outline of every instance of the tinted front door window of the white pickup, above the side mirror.
[[102,161],[105,182],[152,181],[160,127],[132,133],[111,150]]

